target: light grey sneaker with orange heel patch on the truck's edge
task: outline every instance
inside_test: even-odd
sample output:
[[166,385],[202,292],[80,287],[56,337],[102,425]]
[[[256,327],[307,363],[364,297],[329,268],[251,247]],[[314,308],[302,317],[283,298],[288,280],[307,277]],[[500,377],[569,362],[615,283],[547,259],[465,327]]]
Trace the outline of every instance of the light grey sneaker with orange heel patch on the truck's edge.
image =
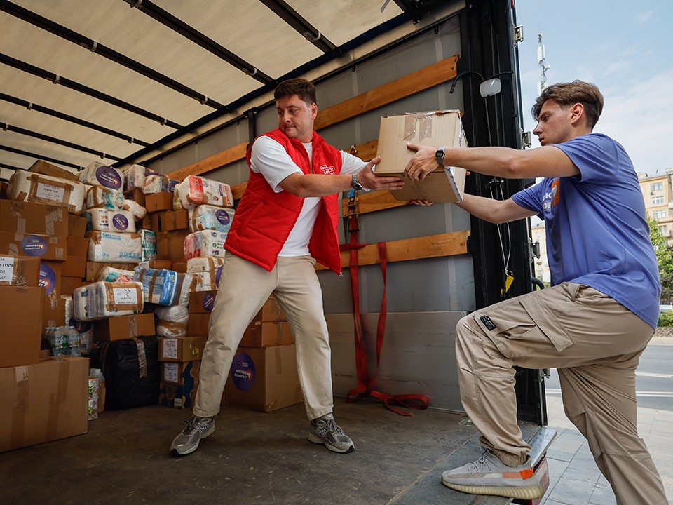
[[442,484],[470,494],[489,494],[517,499],[538,499],[545,488],[533,475],[531,458],[521,466],[508,466],[483,449],[480,459],[442,473]]

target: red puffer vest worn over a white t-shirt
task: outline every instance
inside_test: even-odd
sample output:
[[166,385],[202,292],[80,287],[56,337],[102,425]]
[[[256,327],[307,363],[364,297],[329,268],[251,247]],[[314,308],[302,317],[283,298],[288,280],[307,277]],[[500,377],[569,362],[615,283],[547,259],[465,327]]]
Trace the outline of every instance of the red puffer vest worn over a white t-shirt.
[[[290,155],[305,174],[311,173],[308,153],[304,145],[296,139],[288,138],[280,130],[273,130],[263,136],[271,137]],[[341,152],[313,132],[313,173],[334,175],[341,172]],[[250,151],[247,150],[247,165],[250,166]],[[250,180],[240,198],[231,229],[226,236],[224,248],[231,253],[258,264],[271,271],[278,260],[278,253],[290,236],[297,222],[304,198],[287,191],[276,193],[268,185],[264,176],[250,170]],[[337,194],[322,197],[322,205],[315,220],[308,250],[316,261],[339,274],[341,255],[339,254],[339,198]]]

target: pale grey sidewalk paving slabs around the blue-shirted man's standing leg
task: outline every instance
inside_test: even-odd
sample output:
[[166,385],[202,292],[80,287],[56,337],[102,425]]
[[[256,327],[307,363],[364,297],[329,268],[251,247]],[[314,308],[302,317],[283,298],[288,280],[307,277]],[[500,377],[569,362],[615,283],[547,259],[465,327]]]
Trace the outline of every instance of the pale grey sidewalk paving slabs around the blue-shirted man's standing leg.
[[[587,441],[566,418],[560,394],[547,394],[547,413],[548,426],[557,430],[557,438],[547,452],[550,484],[541,505],[616,505]],[[673,505],[673,412],[639,408],[638,431],[657,465],[669,504]]]

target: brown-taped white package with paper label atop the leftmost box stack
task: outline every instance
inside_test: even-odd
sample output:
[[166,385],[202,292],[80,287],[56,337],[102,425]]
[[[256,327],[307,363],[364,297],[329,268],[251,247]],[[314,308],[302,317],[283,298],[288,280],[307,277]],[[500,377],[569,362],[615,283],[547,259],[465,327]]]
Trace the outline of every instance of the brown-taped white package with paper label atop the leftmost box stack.
[[11,200],[60,205],[67,207],[68,213],[80,215],[86,187],[81,182],[16,170],[9,181],[7,194]]

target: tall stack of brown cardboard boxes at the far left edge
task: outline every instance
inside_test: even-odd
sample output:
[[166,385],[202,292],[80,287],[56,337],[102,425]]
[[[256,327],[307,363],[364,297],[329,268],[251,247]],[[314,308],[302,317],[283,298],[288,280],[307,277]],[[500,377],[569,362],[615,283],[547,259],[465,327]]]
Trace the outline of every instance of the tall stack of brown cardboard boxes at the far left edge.
[[36,163],[0,200],[0,405],[13,406],[0,412],[0,452],[88,429],[88,359],[41,352],[45,323],[63,324],[68,211],[81,211],[70,196],[83,195],[61,170]]

